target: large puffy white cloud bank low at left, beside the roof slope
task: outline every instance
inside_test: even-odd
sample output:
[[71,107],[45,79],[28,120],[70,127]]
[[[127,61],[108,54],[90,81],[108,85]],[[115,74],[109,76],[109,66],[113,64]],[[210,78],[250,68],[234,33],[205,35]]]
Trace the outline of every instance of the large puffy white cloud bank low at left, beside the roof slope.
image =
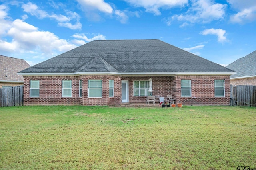
[[30,53],[39,49],[42,53],[52,54],[54,51],[64,52],[76,47],[65,39],[59,39],[54,33],[38,31],[38,28],[20,19],[12,22],[7,35],[12,37],[12,41],[1,39],[1,50],[14,53]]

